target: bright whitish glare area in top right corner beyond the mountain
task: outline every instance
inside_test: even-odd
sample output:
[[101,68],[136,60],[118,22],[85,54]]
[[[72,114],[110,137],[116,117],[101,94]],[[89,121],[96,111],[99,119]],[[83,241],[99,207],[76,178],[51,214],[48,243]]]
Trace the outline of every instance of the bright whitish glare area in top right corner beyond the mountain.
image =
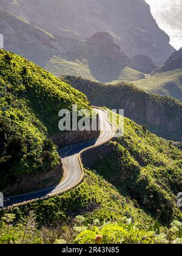
[[174,48],[182,47],[182,0],[146,0],[158,25],[170,37]]

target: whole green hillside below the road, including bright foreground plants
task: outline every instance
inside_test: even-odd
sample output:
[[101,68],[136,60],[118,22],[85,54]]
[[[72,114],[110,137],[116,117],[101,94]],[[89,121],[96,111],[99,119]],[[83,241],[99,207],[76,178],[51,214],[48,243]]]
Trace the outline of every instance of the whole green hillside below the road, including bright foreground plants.
[[[181,243],[177,193],[182,188],[182,151],[127,118],[124,128],[124,137],[111,142],[113,153],[85,169],[79,187],[10,210],[16,218],[11,232],[19,230],[17,219],[32,212],[41,229],[35,229],[33,236],[27,233],[31,243],[95,243],[96,235],[103,236],[106,244]],[[21,241],[23,227],[16,241]],[[1,241],[7,241],[5,223]]]

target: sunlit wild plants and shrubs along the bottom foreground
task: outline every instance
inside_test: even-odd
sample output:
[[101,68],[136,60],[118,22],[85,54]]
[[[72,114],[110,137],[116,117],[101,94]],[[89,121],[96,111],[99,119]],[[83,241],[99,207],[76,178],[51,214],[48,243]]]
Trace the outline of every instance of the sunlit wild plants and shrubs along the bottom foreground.
[[38,229],[33,212],[15,224],[15,215],[5,214],[0,222],[0,244],[181,244],[182,223],[177,219],[169,229],[160,230],[158,222],[140,229],[132,219],[87,222],[76,216],[72,224],[62,223]]

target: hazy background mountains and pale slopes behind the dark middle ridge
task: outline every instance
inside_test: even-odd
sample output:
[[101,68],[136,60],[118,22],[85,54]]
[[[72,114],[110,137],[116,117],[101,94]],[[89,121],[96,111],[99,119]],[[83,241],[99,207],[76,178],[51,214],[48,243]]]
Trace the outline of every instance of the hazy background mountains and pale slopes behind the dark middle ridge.
[[5,49],[56,76],[134,81],[146,91],[181,100],[176,66],[172,74],[146,76],[175,51],[146,1],[0,0],[0,8]]

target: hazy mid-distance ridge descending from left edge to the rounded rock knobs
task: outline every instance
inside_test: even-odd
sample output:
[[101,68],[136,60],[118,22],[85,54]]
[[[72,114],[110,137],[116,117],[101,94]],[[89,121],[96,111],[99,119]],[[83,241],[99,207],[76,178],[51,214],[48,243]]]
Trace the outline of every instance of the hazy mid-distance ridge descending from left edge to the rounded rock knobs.
[[23,55],[56,76],[70,74],[110,82],[118,79],[126,66],[132,65],[147,73],[155,68],[146,56],[130,60],[106,32],[79,41],[49,34],[4,10],[0,10],[0,16],[4,48]]

